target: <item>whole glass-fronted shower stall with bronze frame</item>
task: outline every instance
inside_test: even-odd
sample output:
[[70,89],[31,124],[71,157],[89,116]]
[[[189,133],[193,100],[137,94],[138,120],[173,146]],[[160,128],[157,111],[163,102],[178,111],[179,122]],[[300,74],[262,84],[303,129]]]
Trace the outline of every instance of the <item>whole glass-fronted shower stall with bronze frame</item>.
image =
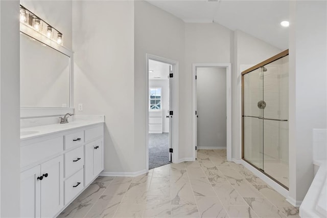
[[288,189],[288,50],[242,72],[242,159]]

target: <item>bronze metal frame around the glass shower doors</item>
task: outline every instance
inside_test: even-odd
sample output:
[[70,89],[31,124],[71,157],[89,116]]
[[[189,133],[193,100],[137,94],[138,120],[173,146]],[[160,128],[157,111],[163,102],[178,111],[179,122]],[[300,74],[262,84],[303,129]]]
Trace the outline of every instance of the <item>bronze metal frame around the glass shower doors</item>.
[[272,176],[270,176],[268,173],[266,173],[263,169],[260,169],[259,167],[255,166],[254,164],[252,164],[250,161],[247,161],[244,158],[244,75],[247,73],[250,73],[256,69],[259,69],[261,67],[264,67],[265,65],[274,62],[278,59],[281,59],[285,56],[289,55],[289,50],[285,50],[279,54],[276,54],[275,56],[262,61],[261,63],[256,64],[255,66],[243,71],[241,73],[242,75],[242,160],[244,160],[246,163],[250,164],[251,166],[253,166],[255,169],[259,170],[260,172],[262,172],[265,176],[269,177],[271,180],[273,180],[274,182],[276,182],[277,184],[281,185],[283,188],[289,190],[289,188],[287,186],[285,186],[284,184],[282,184],[281,182],[279,182],[278,180],[276,180],[275,178],[273,178]]

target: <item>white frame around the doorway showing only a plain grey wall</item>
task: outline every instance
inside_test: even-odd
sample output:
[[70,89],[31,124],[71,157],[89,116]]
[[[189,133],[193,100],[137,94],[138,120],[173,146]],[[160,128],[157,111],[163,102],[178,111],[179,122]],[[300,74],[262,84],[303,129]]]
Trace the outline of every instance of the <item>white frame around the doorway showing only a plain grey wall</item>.
[[227,149],[227,161],[231,161],[231,64],[230,63],[193,63],[193,159],[196,158],[195,146],[197,143],[197,117],[195,111],[197,110],[197,97],[196,97],[196,69],[199,67],[219,67],[226,68],[226,149]]

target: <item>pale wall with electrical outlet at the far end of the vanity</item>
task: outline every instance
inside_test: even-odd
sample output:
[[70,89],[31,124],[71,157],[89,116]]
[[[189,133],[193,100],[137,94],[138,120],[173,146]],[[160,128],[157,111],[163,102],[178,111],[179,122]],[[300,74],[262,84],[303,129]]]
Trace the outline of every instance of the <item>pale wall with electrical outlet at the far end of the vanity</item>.
[[145,150],[134,151],[134,2],[74,2],[73,39],[76,114],[105,115],[104,171],[145,169]]

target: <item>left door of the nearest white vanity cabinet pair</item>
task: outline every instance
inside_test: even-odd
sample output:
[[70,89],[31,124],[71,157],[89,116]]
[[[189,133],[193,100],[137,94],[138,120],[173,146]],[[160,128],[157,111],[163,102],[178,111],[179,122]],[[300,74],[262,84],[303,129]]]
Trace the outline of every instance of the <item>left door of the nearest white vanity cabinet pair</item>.
[[40,165],[20,173],[20,217],[40,217]]

